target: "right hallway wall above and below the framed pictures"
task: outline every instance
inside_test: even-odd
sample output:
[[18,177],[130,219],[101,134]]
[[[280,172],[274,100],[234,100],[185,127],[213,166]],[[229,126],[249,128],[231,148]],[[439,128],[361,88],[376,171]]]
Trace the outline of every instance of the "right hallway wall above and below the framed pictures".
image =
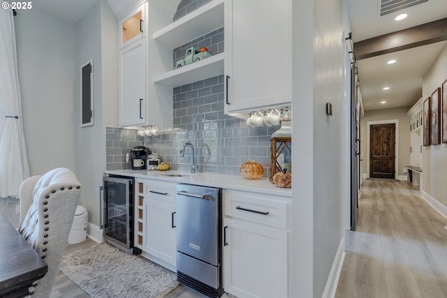
[[[423,77],[423,100],[447,80],[447,45]],[[423,196],[447,209],[447,144],[423,147]],[[444,211],[444,216],[447,216]]]

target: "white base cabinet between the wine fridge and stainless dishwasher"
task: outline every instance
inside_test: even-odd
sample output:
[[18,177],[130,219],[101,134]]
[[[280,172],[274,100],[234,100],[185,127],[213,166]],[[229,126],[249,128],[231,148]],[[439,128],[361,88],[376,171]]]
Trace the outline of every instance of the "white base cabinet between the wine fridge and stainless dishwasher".
[[142,254],[175,271],[175,183],[139,179],[138,185],[143,197]]

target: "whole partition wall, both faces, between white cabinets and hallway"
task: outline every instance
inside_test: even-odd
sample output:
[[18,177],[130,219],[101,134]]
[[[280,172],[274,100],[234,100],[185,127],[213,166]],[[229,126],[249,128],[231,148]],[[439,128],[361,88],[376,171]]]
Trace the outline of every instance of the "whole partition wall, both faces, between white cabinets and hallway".
[[323,295],[344,241],[343,43],[342,0],[293,1],[291,297]]

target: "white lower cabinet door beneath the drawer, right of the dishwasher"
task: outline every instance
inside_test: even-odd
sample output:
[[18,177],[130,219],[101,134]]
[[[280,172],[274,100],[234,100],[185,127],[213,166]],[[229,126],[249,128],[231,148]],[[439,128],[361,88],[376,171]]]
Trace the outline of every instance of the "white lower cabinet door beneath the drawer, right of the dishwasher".
[[223,288],[236,297],[287,297],[287,232],[225,218]]

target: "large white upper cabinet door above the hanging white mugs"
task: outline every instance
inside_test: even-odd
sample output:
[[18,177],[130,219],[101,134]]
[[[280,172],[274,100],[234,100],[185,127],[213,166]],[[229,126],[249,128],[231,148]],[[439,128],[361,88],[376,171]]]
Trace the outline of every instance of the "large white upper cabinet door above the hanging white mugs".
[[226,114],[291,103],[291,2],[225,1]]

